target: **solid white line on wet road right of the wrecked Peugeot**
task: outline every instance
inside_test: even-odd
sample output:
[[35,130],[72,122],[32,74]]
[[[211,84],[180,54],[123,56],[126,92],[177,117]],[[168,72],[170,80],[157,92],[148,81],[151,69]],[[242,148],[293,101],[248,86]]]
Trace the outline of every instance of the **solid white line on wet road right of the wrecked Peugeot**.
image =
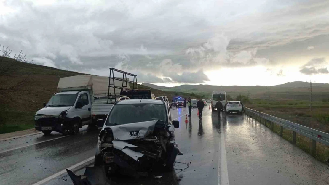
[[[222,117],[222,116],[221,116]],[[218,185],[230,185],[228,182],[227,160],[223,123],[220,122],[220,145],[218,159]]]

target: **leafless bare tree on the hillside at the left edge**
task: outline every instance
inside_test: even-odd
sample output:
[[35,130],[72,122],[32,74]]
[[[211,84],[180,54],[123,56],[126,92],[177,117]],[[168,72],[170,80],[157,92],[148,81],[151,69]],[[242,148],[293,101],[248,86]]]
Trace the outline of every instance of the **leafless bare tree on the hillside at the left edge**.
[[[0,45],[1,49],[1,45]],[[13,81],[13,78],[17,78],[17,74],[20,69],[24,66],[24,63],[33,63],[29,62],[26,59],[26,55],[23,55],[22,50],[18,55],[14,55],[13,58],[10,57],[12,49],[9,47],[5,48],[2,46],[2,54],[0,55],[0,94],[3,94],[7,91],[14,91],[22,88],[29,81],[29,75],[22,75],[18,81]]]

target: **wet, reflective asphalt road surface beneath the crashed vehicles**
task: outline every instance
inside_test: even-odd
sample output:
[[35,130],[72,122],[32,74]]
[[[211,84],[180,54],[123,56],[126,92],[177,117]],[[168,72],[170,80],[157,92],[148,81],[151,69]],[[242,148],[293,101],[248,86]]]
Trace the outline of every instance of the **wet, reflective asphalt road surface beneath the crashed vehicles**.
[[[188,123],[184,122],[187,108],[171,111],[172,118],[178,117],[180,121],[175,139],[184,152],[176,161],[189,163],[188,169],[159,174],[160,179],[118,178],[113,184],[329,184],[327,165],[257,121],[225,113],[218,119],[217,112],[205,107],[199,122],[197,110],[192,110]],[[37,134],[1,141],[0,184],[38,183],[94,156],[98,133],[95,127],[83,127],[74,136]],[[87,161],[73,171],[83,174],[85,166],[92,162]],[[181,163],[175,165],[176,169],[185,167]],[[43,184],[73,183],[63,173]]]

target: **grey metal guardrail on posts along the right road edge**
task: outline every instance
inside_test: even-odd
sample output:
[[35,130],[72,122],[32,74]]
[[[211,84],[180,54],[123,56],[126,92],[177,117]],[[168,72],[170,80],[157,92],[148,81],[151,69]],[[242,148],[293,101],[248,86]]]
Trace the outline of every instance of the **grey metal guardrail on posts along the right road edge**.
[[[313,128],[305,127],[305,126],[293,123],[291,121],[287,121],[287,120],[284,120],[284,119],[281,119],[281,118],[278,118],[275,116],[271,116],[271,115],[268,115],[263,112],[259,112],[259,111],[256,111],[256,110],[253,110],[253,109],[250,109],[247,107],[245,107],[245,112],[250,112],[254,115],[259,116],[260,118],[263,118],[267,121],[280,125],[281,126],[280,127],[281,136],[282,136],[283,127],[287,128],[289,130],[292,130],[293,131],[293,143],[296,143],[296,132],[303,136],[311,138],[313,140],[312,154],[314,154],[313,152],[315,152],[316,141],[329,146],[329,134],[328,133],[321,132],[321,131],[313,129]],[[273,128],[273,126],[272,126],[272,128]]]

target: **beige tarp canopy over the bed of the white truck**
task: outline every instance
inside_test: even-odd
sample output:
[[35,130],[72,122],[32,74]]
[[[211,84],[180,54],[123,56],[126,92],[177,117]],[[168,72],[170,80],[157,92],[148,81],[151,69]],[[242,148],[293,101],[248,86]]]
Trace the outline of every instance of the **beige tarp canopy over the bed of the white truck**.
[[[129,78],[127,78],[129,80]],[[113,83],[113,79],[111,79]],[[122,81],[114,80],[115,86],[122,86]],[[126,82],[124,82],[124,85]],[[108,93],[109,77],[101,76],[72,76],[60,78],[57,89],[59,91],[92,89],[94,97],[105,97]],[[129,83],[128,83],[129,88]],[[115,94],[120,94],[119,88],[115,88]],[[110,88],[110,94],[114,94],[114,89]]]

